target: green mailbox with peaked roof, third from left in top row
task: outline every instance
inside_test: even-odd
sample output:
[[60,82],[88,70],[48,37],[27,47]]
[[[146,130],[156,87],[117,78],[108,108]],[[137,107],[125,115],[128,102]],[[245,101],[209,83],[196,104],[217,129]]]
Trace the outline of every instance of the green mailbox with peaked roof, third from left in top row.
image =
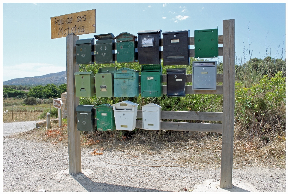
[[135,61],[135,40],[137,36],[122,32],[115,37],[117,44],[117,62],[118,63],[134,63]]

